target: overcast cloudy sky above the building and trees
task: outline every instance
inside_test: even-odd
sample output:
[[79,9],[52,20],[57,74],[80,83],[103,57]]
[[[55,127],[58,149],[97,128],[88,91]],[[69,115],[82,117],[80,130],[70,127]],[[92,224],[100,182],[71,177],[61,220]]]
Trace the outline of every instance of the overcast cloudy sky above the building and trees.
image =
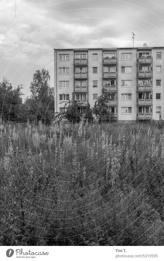
[[24,98],[36,69],[53,80],[53,48],[164,46],[162,0],[0,1],[0,77]]

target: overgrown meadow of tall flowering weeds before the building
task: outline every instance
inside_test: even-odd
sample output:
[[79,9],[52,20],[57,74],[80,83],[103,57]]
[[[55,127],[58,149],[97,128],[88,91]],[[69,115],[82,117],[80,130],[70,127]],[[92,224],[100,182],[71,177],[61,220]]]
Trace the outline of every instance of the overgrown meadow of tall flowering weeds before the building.
[[0,122],[0,245],[162,246],[164,132]]

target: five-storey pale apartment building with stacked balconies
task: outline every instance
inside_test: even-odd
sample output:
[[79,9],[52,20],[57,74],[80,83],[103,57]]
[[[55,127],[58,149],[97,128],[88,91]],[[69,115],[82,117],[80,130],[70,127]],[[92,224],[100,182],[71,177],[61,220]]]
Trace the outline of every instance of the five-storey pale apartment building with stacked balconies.
[[163,60],[163,47],[54,49],[55,112],[74,98],[85,113],[103,88],[116,121],[158,121],[164,113]]

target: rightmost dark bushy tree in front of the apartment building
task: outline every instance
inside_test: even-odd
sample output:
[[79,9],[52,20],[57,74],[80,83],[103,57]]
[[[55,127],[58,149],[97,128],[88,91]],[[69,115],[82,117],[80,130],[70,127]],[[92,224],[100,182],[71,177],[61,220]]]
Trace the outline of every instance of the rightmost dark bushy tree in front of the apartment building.
[[94,108],[92,109],[92,112],[98,119],[99,124],[106,123],[106,121],[110,123],[114,120],[114,113],[110,112],[106,100],[106,94],[102,94],[98,97],[97,101],[95,101]]

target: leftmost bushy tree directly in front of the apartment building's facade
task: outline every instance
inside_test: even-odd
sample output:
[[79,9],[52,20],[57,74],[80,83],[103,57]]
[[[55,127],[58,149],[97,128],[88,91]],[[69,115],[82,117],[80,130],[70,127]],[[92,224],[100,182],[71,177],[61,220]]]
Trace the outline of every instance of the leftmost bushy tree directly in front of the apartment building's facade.
[[[68,105],[68,107],[66,107]],[[81,114],[78,112],[78,107],[82,107],[81,104],[79,104],[75,100],[69,100],[68,103],[65,103],[63,112],[56,113],[55,119],[58,121],[61,120],[67,120],[69,122],[72,122],[73,124],[78,123],[81,121]],[[66,108],[66,111],[64,111]]]

